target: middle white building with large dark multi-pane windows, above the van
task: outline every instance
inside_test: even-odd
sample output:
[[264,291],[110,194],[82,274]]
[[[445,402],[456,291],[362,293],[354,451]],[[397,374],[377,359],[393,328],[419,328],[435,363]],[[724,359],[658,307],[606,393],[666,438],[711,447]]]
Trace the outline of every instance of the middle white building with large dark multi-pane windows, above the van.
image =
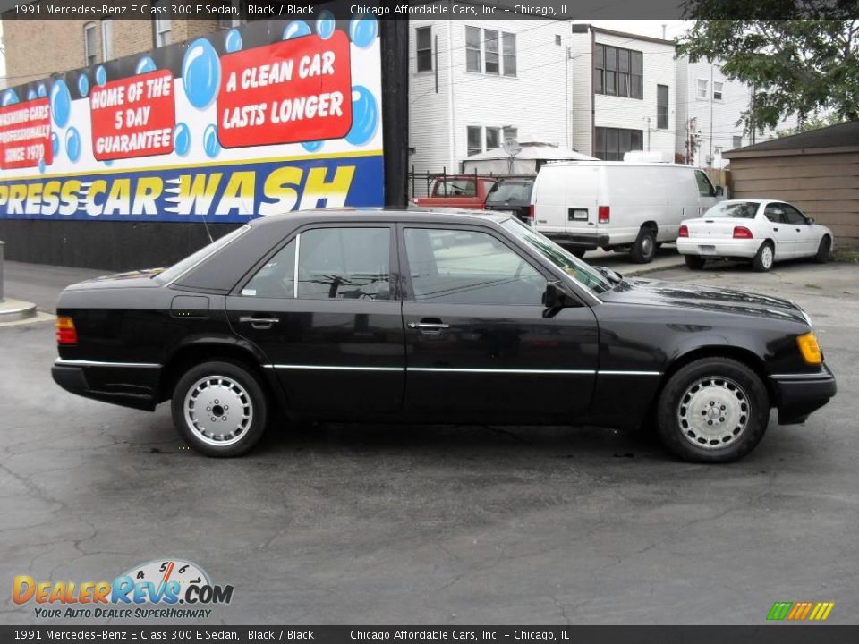
[[573,148],[607,161],[630,150],[673,160],[674,42],[588,24],[571,30]]

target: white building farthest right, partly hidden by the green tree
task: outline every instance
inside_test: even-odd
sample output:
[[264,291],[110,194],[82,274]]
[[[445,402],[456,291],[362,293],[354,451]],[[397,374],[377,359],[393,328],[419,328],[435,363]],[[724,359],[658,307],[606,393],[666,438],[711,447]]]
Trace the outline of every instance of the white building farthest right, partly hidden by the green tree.
[[696,140],[693,165],[725,167],[722,152],[753,142],[774,139],[776,131],[796,126],[796,118],[783,119],[774,130],[756,131],[754,141],[737,124],[752,100],[752,89],[739,80],[727,80],[718,63],[676,61],[676,148],[685,154],[686,141]]

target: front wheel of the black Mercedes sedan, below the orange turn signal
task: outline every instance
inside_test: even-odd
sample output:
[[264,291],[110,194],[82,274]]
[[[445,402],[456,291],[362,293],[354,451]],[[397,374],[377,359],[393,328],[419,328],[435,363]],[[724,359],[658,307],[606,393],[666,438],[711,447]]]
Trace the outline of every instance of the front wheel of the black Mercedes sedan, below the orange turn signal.
[[769,420],[761,377],[730,358],[702,358],[678,369],[657,406],[662,445],[689,462],[743,458],[761,442]]

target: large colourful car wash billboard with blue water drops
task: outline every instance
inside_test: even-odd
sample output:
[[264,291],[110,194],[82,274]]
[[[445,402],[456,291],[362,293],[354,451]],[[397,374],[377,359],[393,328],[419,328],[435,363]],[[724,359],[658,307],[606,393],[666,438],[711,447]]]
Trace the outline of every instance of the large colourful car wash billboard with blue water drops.
[[255,21],[0,93],[0,217],[381,206],[374,19]]

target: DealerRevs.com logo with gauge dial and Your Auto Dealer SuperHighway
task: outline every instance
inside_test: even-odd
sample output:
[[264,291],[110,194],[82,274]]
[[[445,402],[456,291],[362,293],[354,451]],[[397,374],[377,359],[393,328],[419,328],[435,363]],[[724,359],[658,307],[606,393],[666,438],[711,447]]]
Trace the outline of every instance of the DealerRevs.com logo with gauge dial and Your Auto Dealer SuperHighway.
[[196,563],[164,559],[143,563],[113,581],[50,581],[19,575],[13,580],[15,604],[33,607],[45,619],[81,617],[206,618],[208,606],[229,604],[233,586],[218,586]]

